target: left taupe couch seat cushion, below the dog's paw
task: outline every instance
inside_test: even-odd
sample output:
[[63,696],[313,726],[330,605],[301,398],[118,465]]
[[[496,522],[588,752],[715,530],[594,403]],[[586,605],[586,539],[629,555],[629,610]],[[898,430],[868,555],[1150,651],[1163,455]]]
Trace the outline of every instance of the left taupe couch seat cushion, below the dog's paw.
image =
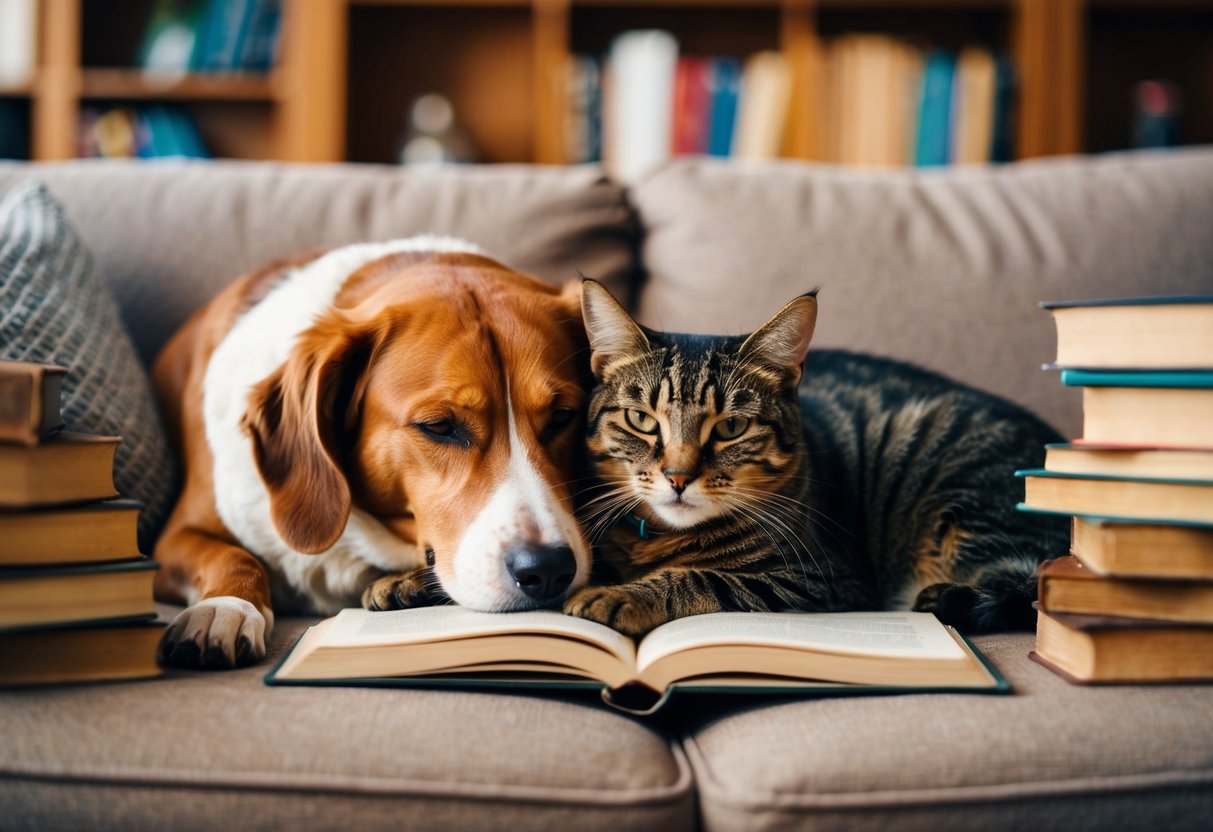
[[[270,661],[306,623],[279,622]],[[0,826],[668,831],[694,824],[680,751],[602,703],[267,688],[269,667],[0,691]]]

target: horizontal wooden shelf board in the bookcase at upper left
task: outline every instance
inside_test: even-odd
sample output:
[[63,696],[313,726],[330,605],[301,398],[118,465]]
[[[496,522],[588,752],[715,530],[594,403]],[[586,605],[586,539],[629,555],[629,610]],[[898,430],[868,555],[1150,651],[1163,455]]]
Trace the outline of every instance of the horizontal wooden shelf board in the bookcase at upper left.
[[277,101],[272,75],[193,74],[158,76],[138,69],[85,69],[80,75],[81,98],[139,101]]

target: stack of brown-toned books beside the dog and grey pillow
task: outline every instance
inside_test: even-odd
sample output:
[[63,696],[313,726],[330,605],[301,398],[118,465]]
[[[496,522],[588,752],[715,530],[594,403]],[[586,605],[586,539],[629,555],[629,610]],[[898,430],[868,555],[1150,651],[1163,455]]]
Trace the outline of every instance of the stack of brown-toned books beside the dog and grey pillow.
[[0,361],[0,685],[159,674],[155,564],[118,437],[63,431],[62,367]]

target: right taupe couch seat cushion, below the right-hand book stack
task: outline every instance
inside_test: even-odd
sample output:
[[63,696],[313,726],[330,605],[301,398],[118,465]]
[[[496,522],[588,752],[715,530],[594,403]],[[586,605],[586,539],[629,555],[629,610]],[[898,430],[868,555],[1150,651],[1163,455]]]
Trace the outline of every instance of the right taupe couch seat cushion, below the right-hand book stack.
[[706,830],[1203,830],[1213,685],[1082,688],[975,639],[1013,696],[910,695],[685,720]]

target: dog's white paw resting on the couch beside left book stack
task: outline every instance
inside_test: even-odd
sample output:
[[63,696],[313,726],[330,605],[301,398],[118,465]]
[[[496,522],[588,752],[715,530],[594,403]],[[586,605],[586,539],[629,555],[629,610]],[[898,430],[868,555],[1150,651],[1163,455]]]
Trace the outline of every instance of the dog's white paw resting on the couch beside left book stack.
[[[267,620],[268,616],[268,620]],[[233,595],[200,600],[178,615],[160,638],[161,665],[230,669],[266,657],[274,614]]]

